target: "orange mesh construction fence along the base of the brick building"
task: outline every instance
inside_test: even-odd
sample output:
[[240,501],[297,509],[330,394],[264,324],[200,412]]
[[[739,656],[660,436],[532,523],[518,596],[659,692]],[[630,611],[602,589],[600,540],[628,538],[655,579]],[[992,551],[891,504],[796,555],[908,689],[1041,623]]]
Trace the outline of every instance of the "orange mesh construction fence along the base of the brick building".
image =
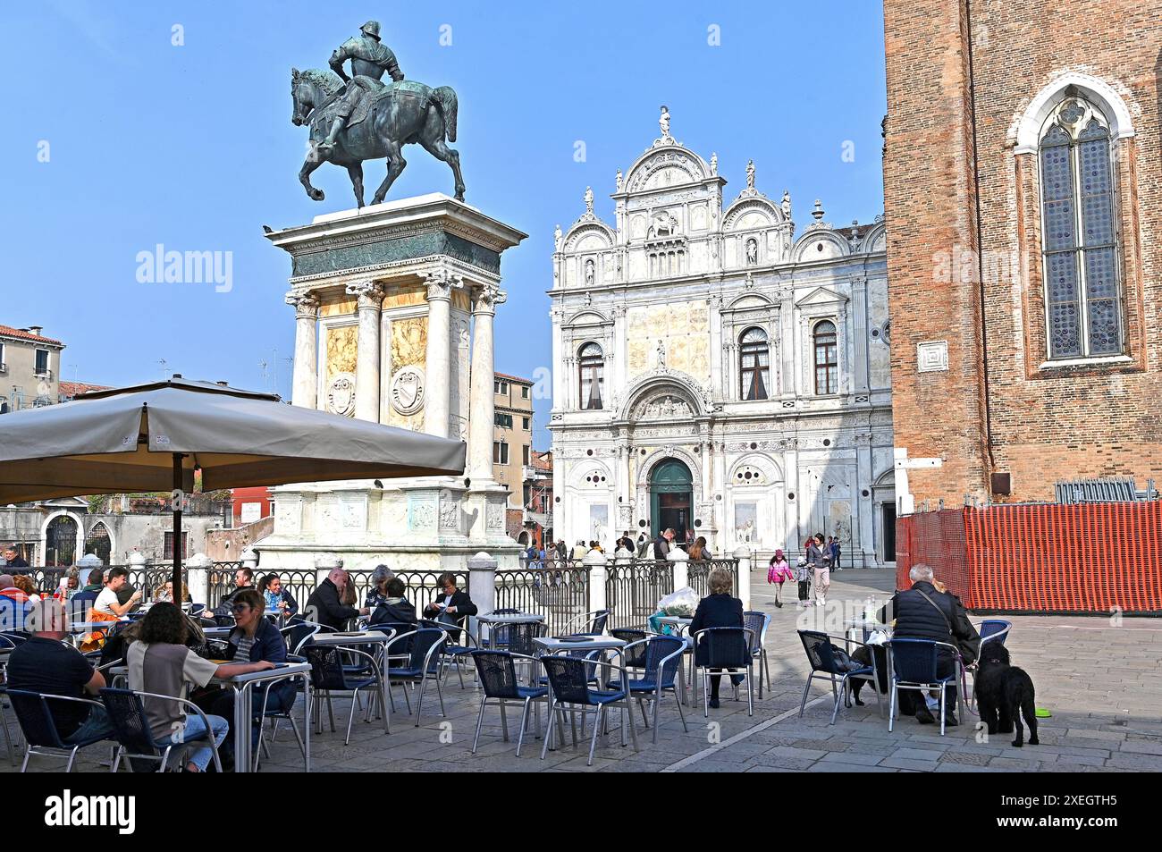
[[896,586],[912,565],[969,609],[1162,613],[1162,501],[989,506],[896,521]]

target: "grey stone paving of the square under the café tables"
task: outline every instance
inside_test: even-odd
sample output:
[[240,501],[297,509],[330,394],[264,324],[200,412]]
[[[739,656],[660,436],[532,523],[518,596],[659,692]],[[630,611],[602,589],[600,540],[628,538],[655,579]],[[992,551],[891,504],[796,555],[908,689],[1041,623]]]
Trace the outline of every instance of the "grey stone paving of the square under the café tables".
[[[1038,707],[1053,716],[1040,719],[1041,745],[1014,749],[1010,736],[977,742],[975,716],[941,737],[934,725],[902,718],[888,732],[887,719],[876,710],[874,694],[863,690],[866,707],[841,709],[829,725],[830,693],[824,685],[812,689],[806,711],[798,707],[806,676],[806,658],[795,633],[804,617],[794,606],[776,609],[763,582],[765,571],[754,572],[753,603],[773,615],[767,637],[773,687],[762,700],[755,696],[754,716],[740,702],[724,699],[723,707],[703,718],[701,706],[687,709],[689,732],[683,732],[673,702],[660,710],[658,743],[652,731],[638,724],[639,751],[622,747],[614,726],[600,739],[594,765],[586,766],[587,742],[548,752],[539,759],[541,742],[531,732],[521,758],[516,758],[516,719],[509,711],[512,742],[501,738],[500,713],[492,707],[485,718],[480,749],[471,754],[480,693],[469,685],[461,690],[454,673],[445,688],[447,717],[439,716],[435,690],[424,701],[423,725],[403,713],[393,716],[390,735],[379,723],[357,717],[351,745],[343,745],[346,700],[336,700],[336,732],[327,730],[311,739],[316,772],[1132,772],[1162,769],[1162,623],[1126,618],[1113,625],[1109,618],[1016,616],[1007,640],[1014,665],[1026,668],[1037,685]],[[842,608],[859,607],[869,595],[881,601],[894,588],[889,571],[838,572],[829,596],[827,628],[840,632]],[[811,610],[808,610],[815,615]],[[810,616],[806,616],[810,618]],[[974,622],[980,618],[974,616]],[[831,622],[834,623],[831,623]],[[804,624],[805,627],[806,624]],[[730,695],[724,685],[723,695]],[[887,701],[887,699],[885,699]],[[98,762],[101,750],[89,750],[79,761],[83,771],[106,771]],[[56,769],[62,764],[34,758],[33,768]],[[13,772],[7,761],[0,769]],[[301,772],[302,758],[289,730],[280,731],[264,771]]]

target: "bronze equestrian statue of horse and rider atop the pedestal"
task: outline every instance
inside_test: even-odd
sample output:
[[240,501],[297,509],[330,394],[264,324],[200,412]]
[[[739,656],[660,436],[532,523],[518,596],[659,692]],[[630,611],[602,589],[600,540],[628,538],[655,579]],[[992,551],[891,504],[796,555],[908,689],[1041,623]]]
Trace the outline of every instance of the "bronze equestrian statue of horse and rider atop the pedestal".
[[[295,126],[310,126],[310,151],[299,180],[307,194],[322,201],[322,189],[310,185],[310,173],[323,163],[343,166],[351,176],[356,202],[364,206],[363,163],[387,158],[387,178],[372,198],[378,205],[400,177],[404,145],[418,142],[424,150],[452,169],[456,198],[464,201],[460,155],[447,146],[456,142],[456,92],[451,86],[431,88],[406,80],[399,63],[380,42],[379,22],[368,21],[361,35],[344,42],[332,55],[331,71],[290,70],[290,96]],[[352,77],[343,66],[351,60]],[[390,83],[382,83],[387,73]]]

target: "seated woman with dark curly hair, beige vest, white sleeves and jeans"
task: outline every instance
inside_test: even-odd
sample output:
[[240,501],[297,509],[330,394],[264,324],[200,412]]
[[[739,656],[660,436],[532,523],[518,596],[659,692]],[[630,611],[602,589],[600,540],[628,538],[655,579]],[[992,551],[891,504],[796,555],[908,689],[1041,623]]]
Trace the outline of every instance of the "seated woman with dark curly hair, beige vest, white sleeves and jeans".
[[[263,618],[263,621],[266,621]],[[206,686],[214,678],[232,678],[273,668],[266,660],[218,665],[199,657],[186,647],[186,620],[173,603],[157,603],[142,620],[141,638],[129,646],[129,688],[137,692],[186,697],[187,683]],[[144,699],[153,742],[160,749],[207,735],[217,745],[225,739],[230,723],[221,716],[208,716],[210,730],[200,716],[187,716],[182,704],[165,699]],[[205,772],[213,751],[209,745],[195,745],[186,764],[187,772]]]

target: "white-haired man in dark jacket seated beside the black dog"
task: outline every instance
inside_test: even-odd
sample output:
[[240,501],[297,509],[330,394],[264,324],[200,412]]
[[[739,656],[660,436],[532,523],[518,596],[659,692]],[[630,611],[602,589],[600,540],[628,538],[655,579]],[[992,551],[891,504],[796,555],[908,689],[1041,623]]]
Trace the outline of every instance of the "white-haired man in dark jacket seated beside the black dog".
[[[956,595],[939,592],[933,586],[932,568],[927,565],[913,565],[909,577],[912,587],[897,592],[891,601],[880,610],[880,621],[890,624],[895,618],[894,639],[932,639],[946,642],[961,649],[964,665],[976,659],[981,637],[968,620],[964,604]],[[952,649],[940,647],[937,654],[937,676],[947,678],[956,671],[955,654]],[[901,690],[901,699],[914,696],[912,690]],[[949,725],[959,724],[953,708],[956,707],[956,686],[951,683],[945,692],[945,719]],[[909,702],[910,703],[910,702]],[[901,713],[909,713],[909,703],[901,702]],[[932,716],[923,697],[916,701],[916,718],[920,724],[932,724]]]

